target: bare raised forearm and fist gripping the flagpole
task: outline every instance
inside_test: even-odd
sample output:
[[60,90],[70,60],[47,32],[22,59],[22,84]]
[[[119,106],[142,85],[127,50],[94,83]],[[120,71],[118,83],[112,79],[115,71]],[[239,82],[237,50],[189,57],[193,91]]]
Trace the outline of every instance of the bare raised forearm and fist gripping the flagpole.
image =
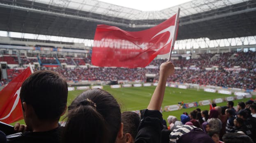
[[164,99],[166,80],[173,73],[174,65],[172,62],[165,62],[160,65],[159,81],[148,105],[149,110],[160,110]]

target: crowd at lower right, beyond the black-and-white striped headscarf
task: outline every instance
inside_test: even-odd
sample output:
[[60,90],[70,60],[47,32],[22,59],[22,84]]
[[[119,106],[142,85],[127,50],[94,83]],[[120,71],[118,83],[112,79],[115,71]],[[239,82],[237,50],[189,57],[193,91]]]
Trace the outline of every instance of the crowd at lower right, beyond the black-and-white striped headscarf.
[[[169,125],[164,124],[164,128],[171,132],[177,125],[194,125],[207,133],[215,143],[223,143],[227,133],[244,134],[256,142],[256,102],[239,102],[237,109],[233,106],[233,101],[228,101],[227,106],[215,105],[210,111],[197,108],[189,114],[181,114],[180,120],[175,116],[168,116]],[[167,141],[168,139],[166,143]]]

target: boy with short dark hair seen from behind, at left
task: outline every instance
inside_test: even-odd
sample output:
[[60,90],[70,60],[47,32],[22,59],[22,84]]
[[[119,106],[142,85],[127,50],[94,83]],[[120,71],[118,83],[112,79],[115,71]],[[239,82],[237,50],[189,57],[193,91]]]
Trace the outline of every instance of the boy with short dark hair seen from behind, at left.
[[62,127],[58,126],[60,116],[67,105],[67,83],[53,71],[37,71],[22,84],[20,99],[24,121],[16,123],[14,130],[22,131],[17,136],[7,136],[9,143],[59,143]]

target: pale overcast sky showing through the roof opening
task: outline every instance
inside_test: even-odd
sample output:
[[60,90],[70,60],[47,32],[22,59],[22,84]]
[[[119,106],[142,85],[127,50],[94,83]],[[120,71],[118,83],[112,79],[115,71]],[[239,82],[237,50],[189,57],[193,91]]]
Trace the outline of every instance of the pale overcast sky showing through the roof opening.
[[141,11],[159,11],[191,0],[99,0]]

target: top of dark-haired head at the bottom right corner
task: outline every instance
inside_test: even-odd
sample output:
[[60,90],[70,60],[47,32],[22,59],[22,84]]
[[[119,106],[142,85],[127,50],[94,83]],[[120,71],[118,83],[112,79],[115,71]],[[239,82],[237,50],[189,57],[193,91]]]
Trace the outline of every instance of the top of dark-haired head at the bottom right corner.
[[240,133],[227,133],[222,139],[225,143],[253,143],[249,136]]

